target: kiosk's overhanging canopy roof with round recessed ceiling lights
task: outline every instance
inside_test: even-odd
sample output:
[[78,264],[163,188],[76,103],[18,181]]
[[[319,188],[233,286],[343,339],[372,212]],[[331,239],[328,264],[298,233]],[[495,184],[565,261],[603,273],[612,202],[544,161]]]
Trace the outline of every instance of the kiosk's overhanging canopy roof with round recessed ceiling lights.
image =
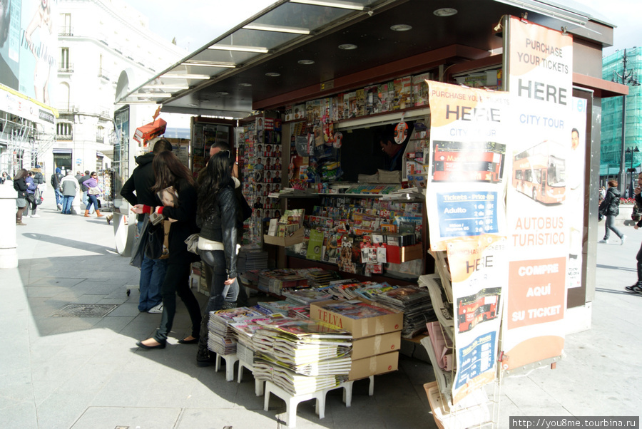
[[[447,6],[425,0],[276,1],[116,103],[162,103],[164,112],[243,118],[370,85],[375,77],[488,58],[501,52],[501,29],[494,29],[506,14],[527,14],[529,21],[564,28],[585,43],[613,43],[613,26],[572,0],[477,0],[474,8],[469,0],[451,0]],[[381,66],[373,70],[373,64]],[[578,61],[574,70],[579,76],[593,73],[582,66]],[[584,85],[603,86],[591,79]]]

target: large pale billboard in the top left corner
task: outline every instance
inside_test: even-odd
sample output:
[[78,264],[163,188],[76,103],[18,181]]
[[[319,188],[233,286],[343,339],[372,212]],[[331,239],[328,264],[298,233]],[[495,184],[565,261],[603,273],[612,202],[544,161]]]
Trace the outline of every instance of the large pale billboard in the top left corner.
[[57,73],[56,0],[0,0],[0,83],[45,105]]

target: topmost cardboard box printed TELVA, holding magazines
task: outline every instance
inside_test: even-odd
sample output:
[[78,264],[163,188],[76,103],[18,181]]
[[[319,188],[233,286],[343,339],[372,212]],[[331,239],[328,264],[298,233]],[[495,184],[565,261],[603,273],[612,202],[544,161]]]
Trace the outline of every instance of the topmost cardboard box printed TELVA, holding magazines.
[[[367,304],[387,308],[382,305],[366,301]],[[388,332],[401,331],[404,326],[403,312],[384,314],[382,316],[367,317],[366,319],[350,319],[349,317],[342,316],[333,311],[322,309],[325,304],[333,304],[338,301],[320,301],[310,304],[310,319],[318,320],[344,329],[352,334],[352,338],[365,338],[367,336],[374,336],[379,334],[387,334]]]

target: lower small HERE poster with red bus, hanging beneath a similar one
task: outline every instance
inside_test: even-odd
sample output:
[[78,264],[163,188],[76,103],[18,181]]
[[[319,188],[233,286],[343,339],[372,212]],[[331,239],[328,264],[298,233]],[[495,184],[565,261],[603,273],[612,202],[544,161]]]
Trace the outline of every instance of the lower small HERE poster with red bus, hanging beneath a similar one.
[[452,274],[457,371],[452,403],[494,381],[497,370],[506,239],[492,235],[447,244]]

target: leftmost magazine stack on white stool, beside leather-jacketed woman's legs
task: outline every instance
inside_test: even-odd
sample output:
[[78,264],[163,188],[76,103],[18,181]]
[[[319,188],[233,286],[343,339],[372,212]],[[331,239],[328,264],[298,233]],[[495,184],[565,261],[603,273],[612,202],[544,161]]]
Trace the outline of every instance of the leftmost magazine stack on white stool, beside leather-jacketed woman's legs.
[[265,317],[265,314],[256,309],[248,309],[248,307],[210,311],[208,348],[220,355],[236,353],[237,337],[230,323],[247,319],[260,319],[262,317]]

